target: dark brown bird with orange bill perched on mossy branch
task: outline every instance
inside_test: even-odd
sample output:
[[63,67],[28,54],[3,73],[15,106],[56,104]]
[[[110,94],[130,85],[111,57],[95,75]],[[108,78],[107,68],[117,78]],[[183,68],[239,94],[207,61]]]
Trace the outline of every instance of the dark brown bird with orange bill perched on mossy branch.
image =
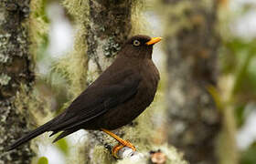
[[[108,67],[63,113],[19,138],[8,150],[15,149],[38,135],[62,131],[54,142],[84,128],[102,130],[123,146],[128,141],[108,130],[130,123],[155,97],[159,73],[152,61],[153,45],[161,37],[133,36],[124,43],[112,66]],[[108,130],[107,130],[108,129]]]

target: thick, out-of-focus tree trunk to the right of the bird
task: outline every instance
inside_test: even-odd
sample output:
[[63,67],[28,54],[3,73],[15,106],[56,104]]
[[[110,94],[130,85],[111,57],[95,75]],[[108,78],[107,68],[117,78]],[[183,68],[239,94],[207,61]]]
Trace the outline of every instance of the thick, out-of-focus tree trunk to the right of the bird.
[[[216,2],[163,0],[168,71],[168,142],[190,163],[215,164],[219,112],[208,87],[217,86]],[[172,11],[170,11],[172,10]]]

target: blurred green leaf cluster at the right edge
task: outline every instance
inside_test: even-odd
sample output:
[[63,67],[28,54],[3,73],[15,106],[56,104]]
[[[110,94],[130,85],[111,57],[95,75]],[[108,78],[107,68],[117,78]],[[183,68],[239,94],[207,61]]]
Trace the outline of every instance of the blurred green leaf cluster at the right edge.
[[[256,99],[256,39],[251,41],[233,38],[224,43],[225,53],[221,53],[221,72],[233,74],[232,100],[235,104],[237,125],[242,126],[244,108]],[[254,62],[253,62],[254,61]]]

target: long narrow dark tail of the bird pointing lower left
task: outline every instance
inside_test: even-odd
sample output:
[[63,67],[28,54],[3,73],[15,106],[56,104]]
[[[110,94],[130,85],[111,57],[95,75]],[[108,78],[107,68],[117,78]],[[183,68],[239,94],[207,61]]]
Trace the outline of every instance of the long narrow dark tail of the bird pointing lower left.
[[16,147],[22,145],[23,143],[27,142],[28,140],[32,138],[36,138],[40,134],[48,131],[48,129],[51,127],[53,123],[53,120],[48,121],[46,124],[28,132],[24,137],[18,138],[15,143],[13,143],[10,147],[8,147],[6,150],[9,151],[11,149],[15,149]]

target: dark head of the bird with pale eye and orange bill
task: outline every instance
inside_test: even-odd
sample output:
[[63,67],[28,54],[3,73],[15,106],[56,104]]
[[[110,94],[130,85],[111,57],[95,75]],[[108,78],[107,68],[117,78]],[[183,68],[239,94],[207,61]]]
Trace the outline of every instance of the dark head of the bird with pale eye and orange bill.
[[151,58],[153,46],[161,39],[161,37],[143,35],[133,36],[124,43],[121,54],[129,57]]

